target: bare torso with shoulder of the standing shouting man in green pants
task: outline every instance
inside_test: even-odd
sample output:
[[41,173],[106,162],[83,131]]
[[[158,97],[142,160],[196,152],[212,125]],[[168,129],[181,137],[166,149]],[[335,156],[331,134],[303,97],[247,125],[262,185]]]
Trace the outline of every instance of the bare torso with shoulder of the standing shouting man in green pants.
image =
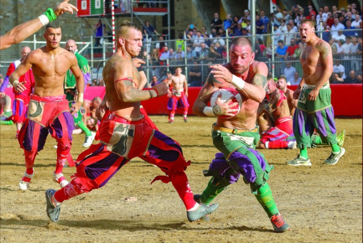
[[[317,38],[312,45],[305,44],[300,55],[305,83],[317,84],[323,78],[323,73],[330,66],[330,62],[333,63],[332,60],[331,48],[325,41]],[[328,78],[324,81],[328,81]]]

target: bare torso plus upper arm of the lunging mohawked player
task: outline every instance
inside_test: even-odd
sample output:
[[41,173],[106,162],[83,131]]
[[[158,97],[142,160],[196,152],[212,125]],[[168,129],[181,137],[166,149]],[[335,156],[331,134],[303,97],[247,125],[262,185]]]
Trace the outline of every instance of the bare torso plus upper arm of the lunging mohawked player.
[[[126,95],[132,95],[140,84],[140,74],[131,60],[113,56],[103,68],[103,80],[109,110],[120,116],[138,118],[140,116],[140,101],[126,102]],[[127,79],[125,79],[127,78]],[[115,82],[117,79],[123,79]],[[132,80],[132,81],[130,81]],[[119,88],[116,90],[116,86]]]

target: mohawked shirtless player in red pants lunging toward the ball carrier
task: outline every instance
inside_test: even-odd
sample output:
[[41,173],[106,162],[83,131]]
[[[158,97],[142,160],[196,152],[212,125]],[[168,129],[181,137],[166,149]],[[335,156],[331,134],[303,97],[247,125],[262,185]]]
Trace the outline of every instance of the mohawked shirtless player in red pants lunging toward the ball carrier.
[[152,90],[138,89],[140,74],[131,58],[141,51],[140,26],[125,20],[117,29],[116,40],[116,52],[103,68],[109,110],[98,130],[100,143],[80,154],[76,177],[68,185],[46,191],[47,215],[57,222],[64,200],[102,187],[132,158],[140,157],[166,173],[154,181],[172,182],[186,207],[188,220],[196,221],[216,210],[218,204],[206,206],[193,200],[184,172],[190,162],[185,161],[180,145],[153,129],[140,114],[140,101],[165,95],[168,86],[162,82]]

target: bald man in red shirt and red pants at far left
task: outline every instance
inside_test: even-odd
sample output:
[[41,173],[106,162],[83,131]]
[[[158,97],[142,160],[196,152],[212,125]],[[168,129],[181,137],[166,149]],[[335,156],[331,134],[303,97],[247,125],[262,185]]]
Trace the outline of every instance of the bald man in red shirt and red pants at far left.
[[[1,97],[5,96],[4,91],[5,91],[7,84],[9,83],[9,76],[15,71],[16,67],[22,61],[24,61],[26,55],[28,55],[28,53],[30,53],[30,51],[31,50],[29,47],[24,47],[23,49],[21,49],[21,52],[20,52],[21,59],[16,60],[9,65],[9,68],[7,69],[7,72],[6,72],[4,82],[1,84],[1,87],[0,87],[0,96]],[[14,93],[15,97],[14,97],[14,101],[12,104],[13,109],[12,109],[12,119],[11,120],[16,125],[15,137],[18,136],[21,125],[25,121],[26,112],[28,111],[29,96],[32,93],[34,85],[35,85],[33,71],[31,70],[31,68],[26,73],[24,73],[24,75],[19,77],[19,82],[23,83],[24,86],[26,87],[26,89],[23,92],[18,92],[18,91],[15,91],[15,88],[12,88],[12,92]]]

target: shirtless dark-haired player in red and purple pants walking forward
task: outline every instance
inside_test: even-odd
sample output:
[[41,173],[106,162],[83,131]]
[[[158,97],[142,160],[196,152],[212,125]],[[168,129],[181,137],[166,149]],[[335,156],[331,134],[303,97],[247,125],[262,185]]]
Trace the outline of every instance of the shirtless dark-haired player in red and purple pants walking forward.
[[[58,146],[53,180],[61,186],[68,183],[62,170],[72,145],[72,115],[78,112],[83,102],[84,80],[76,56],[60,47],[61,37],[61,27],[57,23],[47,24],[44,33],[46,46],[30,52],[9,78],[15,91],[19,93],[26,91],[24,84],[18,81],[19,77],[30,68],[35,77],[27,118],[18,136],[20,147],[24,150],[26,167],[19,182],[22,190],[28,188],[34,175],[35,156],[43,149],[48,132],[57,140]],[[78,101],[72,106],[72,114],[63,88],[64,76],[70,68],[76,76],[78,90]]]

